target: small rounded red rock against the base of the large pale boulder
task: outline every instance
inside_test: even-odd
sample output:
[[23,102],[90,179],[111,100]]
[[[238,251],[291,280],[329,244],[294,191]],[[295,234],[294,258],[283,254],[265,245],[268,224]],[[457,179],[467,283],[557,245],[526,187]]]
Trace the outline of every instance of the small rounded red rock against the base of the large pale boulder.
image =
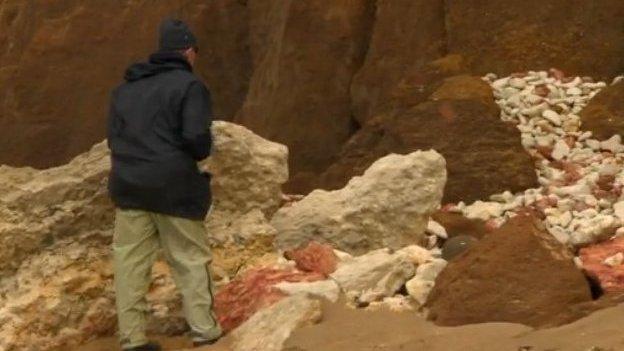
[[297,263],[297,268],[304,272],[315,272],[329,276],[334,273],[338,265],[338,257],[334,249],[327,244],[312,241],[308,246],[289,250],[284,253],[289,260]]

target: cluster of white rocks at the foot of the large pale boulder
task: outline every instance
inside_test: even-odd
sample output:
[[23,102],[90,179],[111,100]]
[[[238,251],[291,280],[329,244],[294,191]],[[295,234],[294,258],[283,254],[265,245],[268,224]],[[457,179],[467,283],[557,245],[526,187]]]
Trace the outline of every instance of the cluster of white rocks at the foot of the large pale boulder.
[[[337,302],[341,295],[351,307],[413,310],[424,305],[438,274],[446,267],[439,248],[409,245],[399,250],[377,249],[359,256],[334,250],[335,272],[326,280],[282,282],[274,287],[287,295],[307,294]],[[275,268],[295,267],[279,259]],[[407,293],[407,294],[405,294]]]

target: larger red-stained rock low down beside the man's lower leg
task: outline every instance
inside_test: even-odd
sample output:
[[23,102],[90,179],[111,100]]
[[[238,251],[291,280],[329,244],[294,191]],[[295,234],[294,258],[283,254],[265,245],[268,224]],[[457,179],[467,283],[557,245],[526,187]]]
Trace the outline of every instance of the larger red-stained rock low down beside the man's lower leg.
[[214,309],[217,319],[228,332],[251,317],[258,310],[270,306],[286,295],[273,285],[280,282],[312,282],[325,276],[298,270],[259,268],[246,272],[224,286],[215,295]]

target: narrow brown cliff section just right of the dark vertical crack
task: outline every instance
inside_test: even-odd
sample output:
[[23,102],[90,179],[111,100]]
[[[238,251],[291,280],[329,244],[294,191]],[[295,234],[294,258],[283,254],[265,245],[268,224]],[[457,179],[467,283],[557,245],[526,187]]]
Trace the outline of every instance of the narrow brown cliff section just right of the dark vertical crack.
[[351,85],[359,123],[383,110],[408,69],[424,66],[445,50],[444,1],[379,0],[376,6],[366,60]]

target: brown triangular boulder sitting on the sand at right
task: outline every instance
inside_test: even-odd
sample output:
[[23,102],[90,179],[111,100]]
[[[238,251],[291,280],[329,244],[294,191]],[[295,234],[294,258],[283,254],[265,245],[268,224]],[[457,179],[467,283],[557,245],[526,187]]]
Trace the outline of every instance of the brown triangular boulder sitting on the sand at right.
[[426,306],[439,325],[550,327],[580,318],[574,306],[589,301],[589,284],[568,249],[533,217],[518,215],[449,262]]

